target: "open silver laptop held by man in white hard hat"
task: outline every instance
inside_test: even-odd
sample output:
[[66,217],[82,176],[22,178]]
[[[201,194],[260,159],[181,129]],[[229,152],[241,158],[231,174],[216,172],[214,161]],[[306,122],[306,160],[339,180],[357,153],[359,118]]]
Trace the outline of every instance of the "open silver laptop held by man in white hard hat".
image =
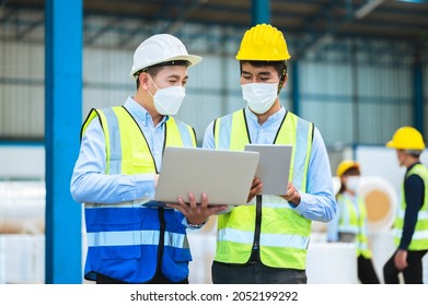
[[258,158],[258,152],[166,146],[154,200],[187,201],[193,192],[200,202],[206,192],[211,205],[246,204]]

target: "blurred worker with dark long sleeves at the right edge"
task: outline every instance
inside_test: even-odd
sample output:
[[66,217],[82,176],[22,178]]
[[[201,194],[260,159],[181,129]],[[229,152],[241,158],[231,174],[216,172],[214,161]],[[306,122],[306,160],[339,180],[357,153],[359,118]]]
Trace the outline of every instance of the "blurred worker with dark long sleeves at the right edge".
[[428,251],[428,169],[419,156],[425,150],[421,133],[413,127],[397,129],[387,148],[396,150],[400,166],[406,167],[394,223],[397,249],[383,267],[386,284],[423,284],[423,257]]

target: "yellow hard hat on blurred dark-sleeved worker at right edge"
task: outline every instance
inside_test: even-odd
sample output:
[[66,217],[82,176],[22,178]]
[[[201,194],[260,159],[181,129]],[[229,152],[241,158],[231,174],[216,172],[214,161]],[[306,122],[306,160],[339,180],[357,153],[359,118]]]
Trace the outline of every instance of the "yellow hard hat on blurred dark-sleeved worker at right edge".
[[386,142],[386,146],[423,151],[425,149],[425,143],[423,134],[417,129],[413,127],[402,127],[395,131],[392,140]]

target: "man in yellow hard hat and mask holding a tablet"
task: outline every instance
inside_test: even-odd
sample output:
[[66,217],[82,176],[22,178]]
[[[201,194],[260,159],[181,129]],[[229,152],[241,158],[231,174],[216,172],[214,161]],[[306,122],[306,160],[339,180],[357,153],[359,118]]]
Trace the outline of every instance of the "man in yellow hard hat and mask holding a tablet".
[[252,204],[219,214],[213,283],[306,283],[311,221],[328,222],[335,215],[321,133],[279,102],[289,58],[286,39],[276,27],[258,24],[246,31],[236,55],[246,106],[217,118],[206,129],[205,148],[293,145],[290,184],[284,186],[282,195],[258,195],[263,181],[254,181]]

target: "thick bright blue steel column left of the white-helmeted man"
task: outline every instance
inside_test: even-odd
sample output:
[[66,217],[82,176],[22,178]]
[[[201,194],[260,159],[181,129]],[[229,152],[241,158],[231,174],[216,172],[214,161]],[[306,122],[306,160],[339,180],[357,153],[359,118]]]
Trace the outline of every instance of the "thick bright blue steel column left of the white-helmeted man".
[[45,1],[47,284],[82,282],[81,204],[70,178],[82,123],[83,0]]

